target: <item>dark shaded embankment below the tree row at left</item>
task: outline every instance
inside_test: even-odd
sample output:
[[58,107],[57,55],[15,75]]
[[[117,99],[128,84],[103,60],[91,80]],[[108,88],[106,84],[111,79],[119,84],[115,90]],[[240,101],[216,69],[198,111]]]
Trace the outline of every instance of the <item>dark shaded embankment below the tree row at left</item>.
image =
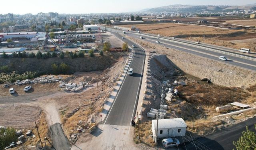
[[51,74],[52,64],[61,64],[64,62],[70,67],[70,73],[77,71],[95,71],[104,70],[111,64],[116,62],[120,57],[119,54],[106,54],[104,56],[85,57],[85,58],[48,58],[48,59],[36,59],[36,58],[0,58],[0,66],[8,65],[9,71],[37,71],[40,74]]

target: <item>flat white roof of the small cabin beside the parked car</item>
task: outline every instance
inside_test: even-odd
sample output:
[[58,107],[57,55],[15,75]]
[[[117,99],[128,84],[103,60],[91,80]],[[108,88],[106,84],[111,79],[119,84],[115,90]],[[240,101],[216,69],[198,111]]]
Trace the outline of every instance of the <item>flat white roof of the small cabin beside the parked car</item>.
[[[154,125],[154,127],[156,127],[156,120],[152,120],[152,124]],[[186,126],[187,125],[182,118],[158,119],[158,129],[178,128]]]

